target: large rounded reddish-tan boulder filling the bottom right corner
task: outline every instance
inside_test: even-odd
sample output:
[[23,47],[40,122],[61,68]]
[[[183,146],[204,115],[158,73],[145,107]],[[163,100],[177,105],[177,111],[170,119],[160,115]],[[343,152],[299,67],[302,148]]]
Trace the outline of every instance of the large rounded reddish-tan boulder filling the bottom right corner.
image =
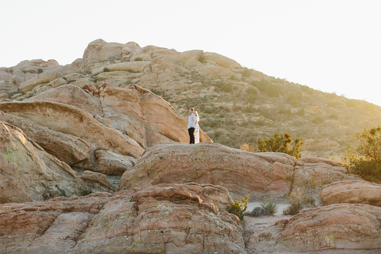
[[285,249],[299,252],[378,249],[380,227],[381,207],[333,204],[303,210],[292,217],[278,242]]

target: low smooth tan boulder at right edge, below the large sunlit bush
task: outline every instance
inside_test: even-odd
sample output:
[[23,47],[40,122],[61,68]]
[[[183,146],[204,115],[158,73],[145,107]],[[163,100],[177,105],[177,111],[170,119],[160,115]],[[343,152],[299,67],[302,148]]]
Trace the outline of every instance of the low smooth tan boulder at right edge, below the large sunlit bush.
[[367,181],[341,181],[320,191],[323,206],[330,204],[369,204],[381,207],[381,185]]

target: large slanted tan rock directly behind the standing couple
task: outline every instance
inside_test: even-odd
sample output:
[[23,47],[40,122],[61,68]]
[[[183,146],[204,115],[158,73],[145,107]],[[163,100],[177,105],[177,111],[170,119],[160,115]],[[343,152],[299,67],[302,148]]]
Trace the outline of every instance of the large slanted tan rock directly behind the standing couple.
[[[187,119],[162,97],[134,84],[120,88],[104,82],[98,89],[107,110],[129,116],[173,141],[189,143]],[[201,131],[200,141],[211,140]]]

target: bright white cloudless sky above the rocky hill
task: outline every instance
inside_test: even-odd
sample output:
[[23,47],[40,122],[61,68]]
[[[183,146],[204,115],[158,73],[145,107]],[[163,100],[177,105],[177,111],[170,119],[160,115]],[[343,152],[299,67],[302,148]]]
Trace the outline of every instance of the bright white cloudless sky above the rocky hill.
[[381,1],[0,0],[0,67],[81,58],[88,43],[200,49],[381,106]]

